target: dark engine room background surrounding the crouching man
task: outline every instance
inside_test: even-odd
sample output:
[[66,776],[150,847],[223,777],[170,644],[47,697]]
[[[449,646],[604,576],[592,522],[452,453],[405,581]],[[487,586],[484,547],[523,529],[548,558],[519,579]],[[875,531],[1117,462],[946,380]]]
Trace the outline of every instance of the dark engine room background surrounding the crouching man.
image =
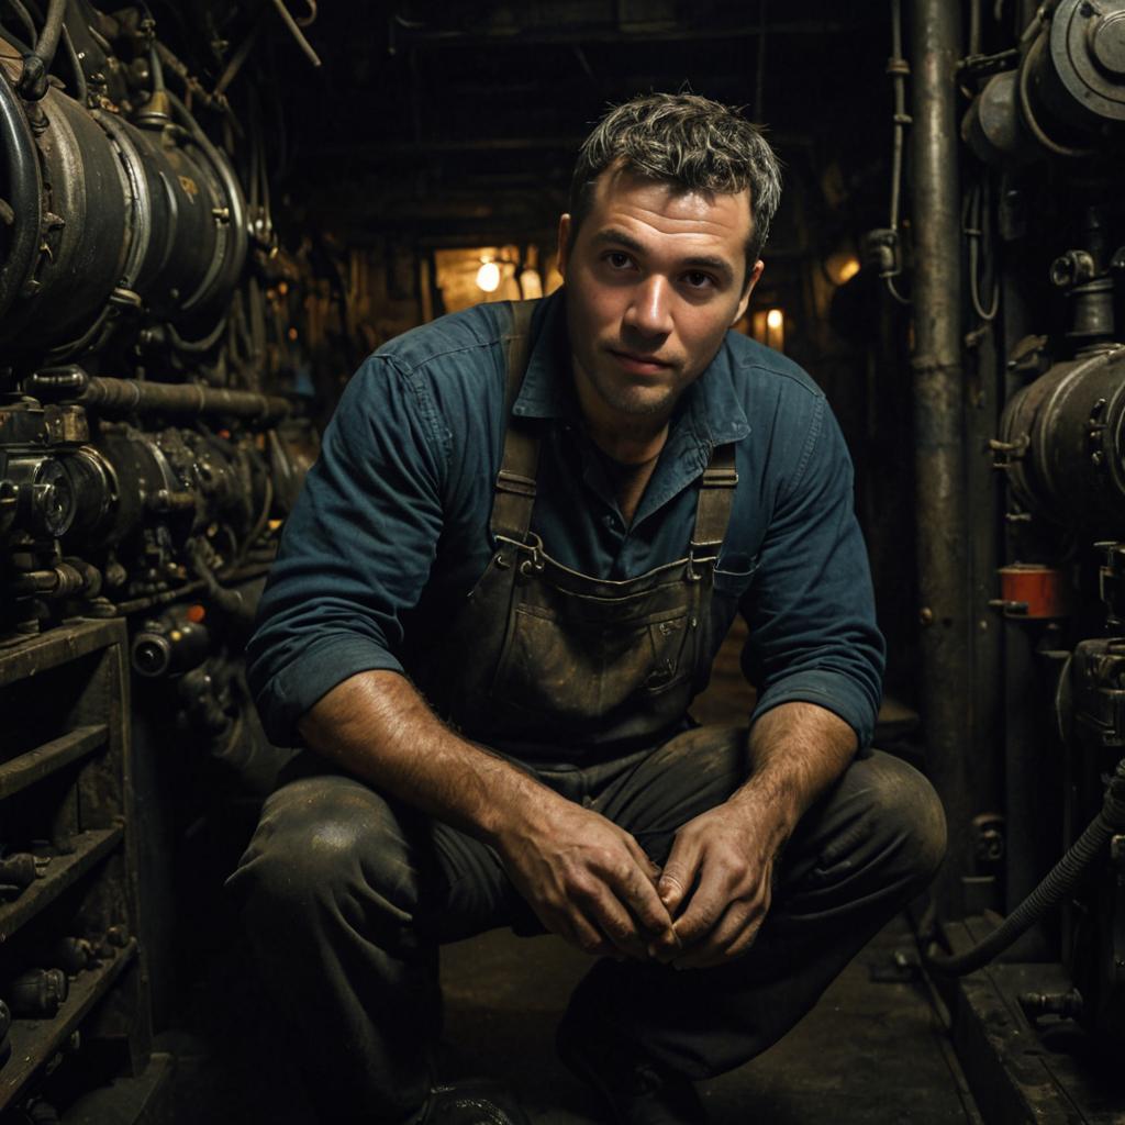
[[[0,0],[0,1122],[144,1072],[233,940],[292,753],[242,650],[344,384],[557,287],[577,146],[648,90],[745,106],[784,161],[737,331],[856,465],[880,737],[950,820],[926,971],[1020,908],[996,1019],[1119,1052],[1123,29],[1122,0]],[[1000,1059],[980,1092],[940,988],[1022,1119],[1034,1083]]]

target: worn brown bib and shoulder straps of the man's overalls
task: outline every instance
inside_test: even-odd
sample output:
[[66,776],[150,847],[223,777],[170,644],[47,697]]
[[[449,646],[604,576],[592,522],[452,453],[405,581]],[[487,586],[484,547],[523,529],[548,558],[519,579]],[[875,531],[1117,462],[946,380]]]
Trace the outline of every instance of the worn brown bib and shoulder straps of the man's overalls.
[[[539,435],[512,414],[531,351],[532,302],[505,338],[504,454],[490,531],[495,554],[440,649],[416,674],[435,710],[488,745],[593,753],[657,745],[705,683],[716,560],[738,476],[734,446],[712,451],[688,552],[610,582],[557,562],[531,530]],[[530,755],[529,755],[530,756]]]

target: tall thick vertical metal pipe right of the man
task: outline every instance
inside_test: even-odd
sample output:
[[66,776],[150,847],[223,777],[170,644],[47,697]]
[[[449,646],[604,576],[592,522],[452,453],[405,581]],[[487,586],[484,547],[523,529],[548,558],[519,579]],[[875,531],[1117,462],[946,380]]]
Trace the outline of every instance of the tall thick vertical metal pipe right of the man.
[[948,0],[910,6],[919,702],[929,774],[950,826],[938,902],[954,916],[962,912],[960,876],[972,871],[968,763],[973,753],[954,80],[958,9]]

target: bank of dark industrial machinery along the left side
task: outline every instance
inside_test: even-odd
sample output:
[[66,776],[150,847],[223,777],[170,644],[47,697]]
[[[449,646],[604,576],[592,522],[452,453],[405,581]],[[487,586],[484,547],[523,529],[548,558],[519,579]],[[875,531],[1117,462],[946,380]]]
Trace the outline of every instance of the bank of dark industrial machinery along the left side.
[[[6,938],[22,927],[38,948],[25,960],[9,943],[0,957],[0,1052],[19,1045],[0,1064],[0,1109],[14,1120],[57,1119],[52,1044],[80,1020],[82,1035],[112,1038],[108,1007],[138,1009],[130,1066],[144,1070],[140,1009],[166,1008],[183,939],[171,882],[196,862],[184,829],[224,772],[228,788],[261,792],[282,760],[241,652],[316,434],[292,393],[300,271],[273,231],[264,142],[225,92],[244,58],[205,84],[143,3],[0,11],[0,800],[19,789],[22,802],[19,816],[6,806],[0,832],[0,912]],[[252,118],[253,100],[241,104]],[[109,645],[97,649],[109,654],[104,721],[71,706],[94,644]],[[144,685],[132,704],[123,675]],[[32,758],[51,778],[28,790]],[[118,828],[91,806],[105,786]],[[57,832],[72,806],[76,845]],[[68,865],[82,872],[78,892]],[[76,908],[58,906],[75,893]],[[117,946],[145,966],[125,992],[107,901],[120,907]],[[66,942],[93,968],[45,952]],[[102,998],[87,1017],[91,997]]]

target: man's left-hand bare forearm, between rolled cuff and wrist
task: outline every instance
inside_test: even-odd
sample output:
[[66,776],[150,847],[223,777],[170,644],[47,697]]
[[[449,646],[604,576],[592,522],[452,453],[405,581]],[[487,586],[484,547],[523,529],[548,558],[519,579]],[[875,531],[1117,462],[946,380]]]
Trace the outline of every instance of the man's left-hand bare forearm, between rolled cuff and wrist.
[[557,800],[530,774],[458,737],[395,672],[351,676],[298,726],[322,757],[486,843]]

